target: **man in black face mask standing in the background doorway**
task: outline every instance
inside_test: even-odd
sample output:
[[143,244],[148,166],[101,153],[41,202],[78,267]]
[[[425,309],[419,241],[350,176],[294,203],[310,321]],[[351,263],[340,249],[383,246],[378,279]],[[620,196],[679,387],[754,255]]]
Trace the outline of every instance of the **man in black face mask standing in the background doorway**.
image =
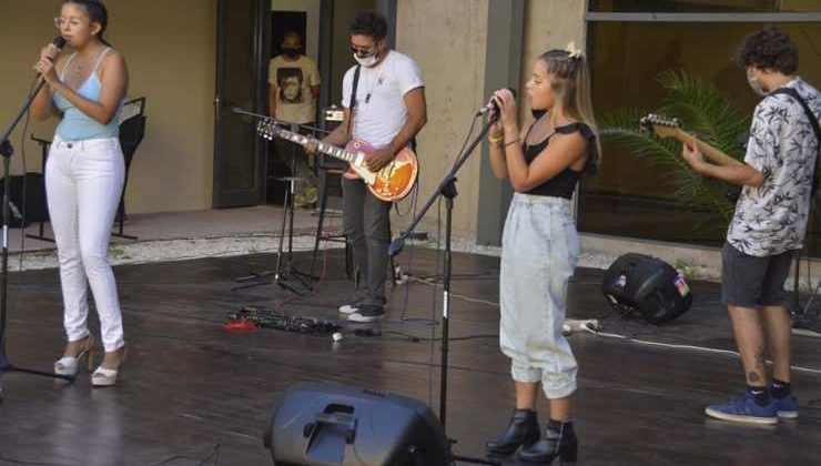
[[[288,123],[315,126],[316,98],[320,95],[320,71],[316,63],[302,54],[302,38],[287,31],[282,39],[282,54],[268,65],[268,108],[271,116]],[[301,131],[307,134],[307,131]],[[280,159],[293,169],[292,175],[307,184],[294,196],[294,205],[308,205],[315,201],[315,176],[302,155],[302,149],[282,139],[275,142]]]

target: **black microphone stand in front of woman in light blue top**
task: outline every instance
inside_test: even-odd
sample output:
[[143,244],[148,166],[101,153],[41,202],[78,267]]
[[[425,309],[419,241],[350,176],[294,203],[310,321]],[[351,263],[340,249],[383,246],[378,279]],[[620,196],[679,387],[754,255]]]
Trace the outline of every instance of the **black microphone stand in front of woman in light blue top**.
[[14,131],[14,128],[17,128],[18,123],[20,123],[20,120],[22,120],[23,115],[27,111],[29,111],[29,108],[31,107],[31,102],[34,101],[34,98],[37,98],[37,94],[40,93],[40,90],[45,84],[45,80],[42,78],[40,79],[40,83],[37,85],[37,89],[34,92],[29,95],[29,100],[23,104],[23,107],[20,109],[20,112],[18,112],[17,116],[11,121],[11,124],[9,125],[9,129],[6,130],[3,135],[0,138],[0,154],[3,158],[3,199],[2,199],[2,226],[3,226],[3,239],[2,239],[2,265],[0,265],[0,377],[2,377],[4,374],[10,372],[22,372],[26,374],[33,374],[33,375],[41,375],[44,377],[52,377],[52,378],[61,378],[63,381],[73,382],[74,376],[73,375],[59,375],[54,373],[49,372],[41,372],[41,371],[32,371],[28,368],[17,367],[9,361],[8,356],[6,355],[6,318],[8,313],[8,302],[9,302],[9,164],[11,162],[11,155],[14,154],[14,148],[11,145],[11,141],[9,138],[11,138],[11,133]]

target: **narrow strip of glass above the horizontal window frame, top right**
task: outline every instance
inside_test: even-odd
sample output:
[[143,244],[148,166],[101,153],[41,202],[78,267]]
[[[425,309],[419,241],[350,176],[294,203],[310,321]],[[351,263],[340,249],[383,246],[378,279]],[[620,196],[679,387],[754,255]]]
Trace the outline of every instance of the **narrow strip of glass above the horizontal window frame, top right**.
[[590,0],[596,12],[772,13],[821,11],[818,0]]

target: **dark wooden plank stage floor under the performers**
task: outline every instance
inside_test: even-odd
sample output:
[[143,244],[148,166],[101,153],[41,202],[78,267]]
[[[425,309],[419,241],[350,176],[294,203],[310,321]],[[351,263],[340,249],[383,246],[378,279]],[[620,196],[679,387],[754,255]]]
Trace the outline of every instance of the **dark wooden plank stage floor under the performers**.
[[[407,265],[411,252],[412,273],[434,274],[434,252],[407,250],[399,262]],[[274,286],[230,291],[234,276],[273,265],[271,254],[118,267],[129,342],[121,384],[92,389],[84,374],[73,385],[3,376],[0,465],[270,465],[261,440],[266,418],[290,386],[305,381],[362,385],[438,407],[438,344],[424,338],[438,332],[429,320],[438,318],[434,302],[440,293],[429,283],[412,281],[393,291],[378,337],[348,331],[334,344],[328,336],[221,326],[227,312],[250,304],[336,318],[352,286],[341,264],[341,252],[330,252],[327,276],[305,297]],[[447,427],[458,454],[477,456],[506,425],[513,405],[508,362],[497,346],[498,308],[485,302],[497,301],[498,260],[457,254],[454,271]],[[571,316],[606,316],[601,274],[577,272]],[[693,308],[679,320],[656,327],[610,315],[606,331],[732,350],[718,286],[691,286]],[[12,275],[10,292],[11,359],[49,369],[63,345],[57,271]],[[731,425],[708,419],[703,408],[741,393],[737,358],[591,334],[570,341],[580,363],[580,464],[821,464],[818,374],[795,373],[798,421]],[[821,369],[819,350],[821,340],[797,336],[795,364]],[[546,405],[540,413],[545,419]]]

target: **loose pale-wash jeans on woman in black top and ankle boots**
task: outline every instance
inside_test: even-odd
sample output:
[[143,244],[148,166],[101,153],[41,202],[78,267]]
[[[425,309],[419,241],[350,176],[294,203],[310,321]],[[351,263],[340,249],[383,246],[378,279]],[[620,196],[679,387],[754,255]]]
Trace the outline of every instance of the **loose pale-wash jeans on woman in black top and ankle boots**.
[[578,366],[561,325],[578,257],[569,200],[514,194],[501,240],[499,344],[514,381],[541,382],[548,399],[576,391]]

